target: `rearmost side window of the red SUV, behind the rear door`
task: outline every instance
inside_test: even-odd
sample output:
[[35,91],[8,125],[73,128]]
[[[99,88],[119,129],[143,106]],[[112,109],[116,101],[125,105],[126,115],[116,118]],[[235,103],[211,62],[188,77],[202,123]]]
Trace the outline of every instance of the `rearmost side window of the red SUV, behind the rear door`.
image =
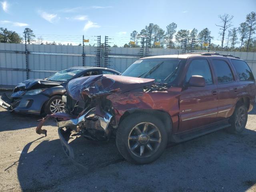
[[234,68],[236,69],[236,72],[241,81],[254,81],[252,71],[246,62],[235,59],[232,59],[231,62],[234,65]]

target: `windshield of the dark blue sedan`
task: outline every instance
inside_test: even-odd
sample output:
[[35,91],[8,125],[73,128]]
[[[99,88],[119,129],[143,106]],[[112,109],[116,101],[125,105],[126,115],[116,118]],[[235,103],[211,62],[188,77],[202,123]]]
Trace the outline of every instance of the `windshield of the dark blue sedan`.
[[46,78],[46,80],[65,82],[82,71],[82,69],[68,68],[54,73],[50,77]]

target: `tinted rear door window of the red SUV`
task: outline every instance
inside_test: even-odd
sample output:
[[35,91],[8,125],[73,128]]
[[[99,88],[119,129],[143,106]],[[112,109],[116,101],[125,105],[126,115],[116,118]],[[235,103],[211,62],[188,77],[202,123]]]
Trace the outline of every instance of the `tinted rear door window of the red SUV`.
[[234,77],[232,72],[225,61],[222,60],[213,60],[214,68],[216,70],[216,74],[218,76],[219,83],[226,83],[230,81],[234,81]]

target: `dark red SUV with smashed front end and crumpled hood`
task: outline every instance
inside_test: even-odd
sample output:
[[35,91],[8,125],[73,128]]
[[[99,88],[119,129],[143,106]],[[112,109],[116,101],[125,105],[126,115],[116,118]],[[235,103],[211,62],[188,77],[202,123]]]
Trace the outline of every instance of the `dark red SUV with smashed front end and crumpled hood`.
[[64,151],[74,160],[72,132],[90,140],[116,138],[126,160],[156,160],[168,141],[182,142],[226,128],[245,129],[255,103],[256,84],[243,60],[217,53],[141,58],[121,76],[98,75],[71,80],[66,113],[57,118]]

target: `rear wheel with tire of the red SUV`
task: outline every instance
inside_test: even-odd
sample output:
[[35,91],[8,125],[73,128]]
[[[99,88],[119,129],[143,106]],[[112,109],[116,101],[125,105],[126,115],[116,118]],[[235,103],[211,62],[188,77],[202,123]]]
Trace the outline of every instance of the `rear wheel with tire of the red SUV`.
[[[241,112],[243,113],[243,116],[241,115]],[[244,103],[240,102],[236,104],[234,113],[232,114],[229,120],[231,126],[227,128],[228,132],[234,133],[234,134],[241,133],[245,129],[247,118],[248,118],[248,109],[244,105]],[[241,122],[238,123],[240,119],[241,119]]]

